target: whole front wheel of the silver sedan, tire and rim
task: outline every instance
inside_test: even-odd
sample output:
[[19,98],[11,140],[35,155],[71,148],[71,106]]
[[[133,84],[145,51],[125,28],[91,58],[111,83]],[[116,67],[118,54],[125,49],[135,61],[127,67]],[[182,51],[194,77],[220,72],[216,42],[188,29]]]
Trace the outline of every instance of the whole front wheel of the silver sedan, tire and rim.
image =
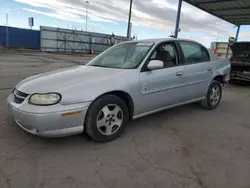
[[111,141],[122,133],[128,117],[128,108],[121,98],[104,95],[90,106],[85,131],[95,141]]

